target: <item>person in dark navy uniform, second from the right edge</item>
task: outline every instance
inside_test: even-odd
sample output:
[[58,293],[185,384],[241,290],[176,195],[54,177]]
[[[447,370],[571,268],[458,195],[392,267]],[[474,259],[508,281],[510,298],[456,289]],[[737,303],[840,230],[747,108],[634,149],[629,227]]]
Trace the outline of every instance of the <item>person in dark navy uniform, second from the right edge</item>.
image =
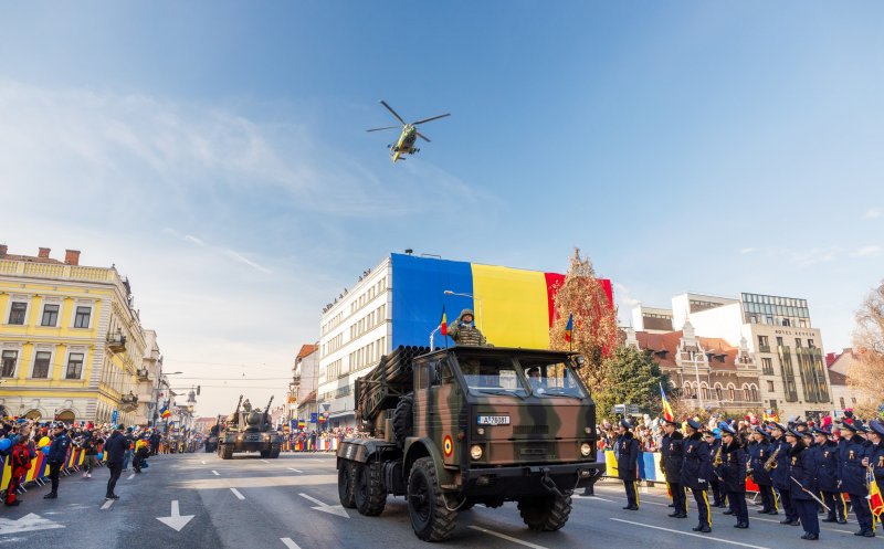
[[872,510],[865,499],[865,467],[863,458],[866,457],[865,439],[857,432],[865,430],[864,426],[854,420],[853,423],[841,423],[841,442],[839,442],[839,469],[838,475],[841,479],[841,490],[850,496],[853,513],[856,514],[856,521],[860,529],[854,536],[866,538],[875,537],[874,525],[872,522]]

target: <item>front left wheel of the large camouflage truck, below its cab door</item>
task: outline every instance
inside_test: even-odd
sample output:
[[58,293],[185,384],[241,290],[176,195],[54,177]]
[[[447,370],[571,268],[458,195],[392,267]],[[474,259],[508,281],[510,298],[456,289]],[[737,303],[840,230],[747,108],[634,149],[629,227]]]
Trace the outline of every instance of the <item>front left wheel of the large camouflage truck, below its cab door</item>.
[[449,510],[445,495],[439,488],[432,457],[421,457],[408,477],[408,515],[414,535],[424,541],[442,541],[451,537],[457,511]]

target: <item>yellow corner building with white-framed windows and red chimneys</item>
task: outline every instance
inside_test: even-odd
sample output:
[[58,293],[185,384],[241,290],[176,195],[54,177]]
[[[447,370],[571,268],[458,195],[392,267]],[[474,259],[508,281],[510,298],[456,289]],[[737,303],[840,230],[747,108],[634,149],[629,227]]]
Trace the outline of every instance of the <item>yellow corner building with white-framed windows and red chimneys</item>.
[[[0,245],[0,407],[7,415],[135,422],[145,337],[114,267]],[[115,414],[116,412],[116,414]]]

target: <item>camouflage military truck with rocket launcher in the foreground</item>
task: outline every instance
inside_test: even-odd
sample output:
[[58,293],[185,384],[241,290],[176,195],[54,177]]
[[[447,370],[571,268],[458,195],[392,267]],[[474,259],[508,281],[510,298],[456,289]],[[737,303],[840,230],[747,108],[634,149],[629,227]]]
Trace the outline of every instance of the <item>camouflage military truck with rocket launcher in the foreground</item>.
[[406,496],[424,541],[448,539],[457,513],[476,504],[516,502],[528,528],[558,530],[573,490],[604,472],[582,363],[576,353],[499,347],[382,357],[356,383],[369,436],[338,447],[341,505],[377,516],[389,495]]

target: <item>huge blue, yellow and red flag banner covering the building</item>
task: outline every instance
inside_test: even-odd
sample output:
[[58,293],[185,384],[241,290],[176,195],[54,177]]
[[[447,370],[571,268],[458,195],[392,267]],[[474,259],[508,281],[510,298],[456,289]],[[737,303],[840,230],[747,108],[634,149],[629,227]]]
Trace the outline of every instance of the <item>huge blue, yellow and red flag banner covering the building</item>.
[[[402,254],[392,254],[390,265],[393,349],[429,345],[443,306],[450,323],[472,309],[476,327],[496,347],[549,348],[555,295],[565,275]],[[611,282],[601,282],[613,304]],[[434,345],[444,347],[439,339]]]

